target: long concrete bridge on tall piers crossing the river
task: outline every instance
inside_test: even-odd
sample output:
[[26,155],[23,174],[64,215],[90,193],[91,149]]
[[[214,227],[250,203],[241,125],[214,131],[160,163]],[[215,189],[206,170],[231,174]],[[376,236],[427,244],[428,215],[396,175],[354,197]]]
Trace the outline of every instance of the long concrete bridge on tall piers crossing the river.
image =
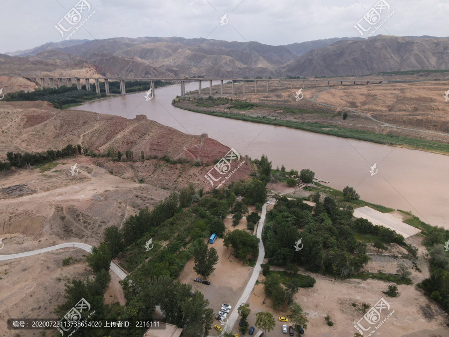
[[[172,82],[181,82],[181,96],[185,96],[186,95],[186,89],[185,89],[185,83],[186,82],[192,82],[192,81],[198,81],[198,89],[199,89],[199,94],[203,94],[204,89],[202,89],[202,83],[203,82],[208,82],[209,81],[209,94],[212,95],[212,81],[220,81],[220,86],[221,86],[221,90],[220,93],[224,94],[224,87],[223,87],[223,83],[225,82],[231,82],[231,92],[232,94],[234,94],[234,83],[235,82],[239,82],[239,83],[243,83],[243,93],[246,93],[246,84],[247,83],[252,83],[254,82],[254,92],[257,92],[257,86],[259,84],[259,87],[261,87],[260,84],[265,84],[266,83],[266,92],[268,92],[268,88],[269,88],[269,84],[271,83],[277,83],[278,89],[280,89],[280,85],[281,82],[287,82],[290,83],[290,88],[293,88],[293,83],[295,83],[295,88],[298,87],[305,87],[305,84],[311,84],[311,87],[313,87],[313,85],[315,85],[315,88],[317,87],[318,83],[320,84],[326,84],[327,86],[330,85],[330,83],[336,83],[338,85],[338,83],[340,83],[340,86],[343,85],[343,83],[349,83],[349,85],[356,85],[356,83],[358,84],[366,84],[369,85],[370,83],[372,84],[381,84],[381,83],[388,83],[387,81],[384,80],[328,80],[328,79],[279,79],[279,78],[273,78],[273,79],[249,79],[249,78],[229,78],[229,79],[222,79],[222,78],[123,78],[123,77],[117,77],[117,78],[86,78],[86,77],[25,77],[27,79],[29,79],[30,81],[36,83],[36,84],[40,84],[41,87],[45,87],[46,84],[46,80],[48,79],[48,83],[49,86],[51,88],[54,88],[55,85],[57,85],[57,87],[61,87],[62,85],[65,84],[69,87],[72,86],[72,81],[73,83],[76,83],[76,86],[78,87],[78,90],[81,90],[81,80],[84,81],[84,83],[86,84],[86,89],[90,90],[90,80],[93,80],[95,82],[95,89],[97,93],[100,93],[100,80],[104,81],[104,86],[105,86],[105,91],[106,94],[109,94],[109,81],[119,81],[120,82],[120,94],[121,95],[125,95],[126,94],[126,90],[125,90],[125,81],[150,81],[150,88],[153,88],[153,94],[155,93],[155,87],[154,87],[154,82],[155,81],[172,81]],[[55,83],[55,79],[56,79],[56,83]],[[348,84],[346,84],[348,85]],[[272,87],[272,85],[271,85]],[[149,89],[150,89],[149,88]],[[260,89],[259,89],[260,91]]]

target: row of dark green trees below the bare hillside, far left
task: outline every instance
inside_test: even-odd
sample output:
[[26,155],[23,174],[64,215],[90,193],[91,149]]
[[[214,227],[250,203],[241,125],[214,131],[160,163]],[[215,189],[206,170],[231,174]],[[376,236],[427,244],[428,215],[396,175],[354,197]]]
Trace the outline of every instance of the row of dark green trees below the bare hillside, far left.
[[23,167],[26,163],[30,165],[37,165],[42,163],[47,163],[50,161],[54,161],[59,158],[64,158],[67,156],[74,155],[76,153],[81,153],[80,145],[67,145],[61,150],[47,150],[42,152],[35,153],[20,153],[20,152],[7,152],[6,159],[9,161],[9,164],[14,167]]

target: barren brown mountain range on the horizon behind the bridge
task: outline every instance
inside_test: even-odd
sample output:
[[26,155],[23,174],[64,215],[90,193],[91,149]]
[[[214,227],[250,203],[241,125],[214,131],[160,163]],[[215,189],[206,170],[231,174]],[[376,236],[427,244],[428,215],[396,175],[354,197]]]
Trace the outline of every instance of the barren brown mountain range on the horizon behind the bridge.
[[329,38],[272,46],[183,37],[50,42],[0,54],[4,75],[321,77],[449,69],[449,37]]

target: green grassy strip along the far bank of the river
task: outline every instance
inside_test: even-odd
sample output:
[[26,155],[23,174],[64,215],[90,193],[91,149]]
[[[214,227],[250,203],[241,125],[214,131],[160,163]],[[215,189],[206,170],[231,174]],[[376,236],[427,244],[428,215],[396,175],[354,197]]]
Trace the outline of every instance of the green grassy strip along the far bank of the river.
[[[298,122],[292,120],[282,120],[282,119],[272,119],[258,116],[248,116],[246,114],[242,114],[241,112],[229,113],[229,112],[220,112],[220,111],[211,111],[209,108],[203,108],[202,110],[194,107],[190,107],[189,105],[196,106],[195,103],[187,103],[180,102],[179,99],[174,99],[172,104],[180,109],[208,114],[217,117],[225,117],[230,119],[238,119],[253,123],[262,123],[268,125],[276,125],[276,126],[284,126],[293,129],[299,129],[304,131],[310,131],[315,133],[322,133],[330,136],[337,136],[342,138],[351,138],[357,140],[364,140],[372,143],[383,144],[383,145],[392,145],[397,147],[404,147],[414,150],[422,150],[427,152],[433,152],[438,154],[449,154],[449,144],[443,144],[434,142],[431,140],[420,139],[420,138],[412,138],[412,137],[404,137],[390,134],[379,134],[374,132],[366,132],[356,129],[348,129],[343,128],[336,125],[326,125],[321,123],[307,123],[307,122]],[[216,109],[216,107],[212,107],[210,109]]]

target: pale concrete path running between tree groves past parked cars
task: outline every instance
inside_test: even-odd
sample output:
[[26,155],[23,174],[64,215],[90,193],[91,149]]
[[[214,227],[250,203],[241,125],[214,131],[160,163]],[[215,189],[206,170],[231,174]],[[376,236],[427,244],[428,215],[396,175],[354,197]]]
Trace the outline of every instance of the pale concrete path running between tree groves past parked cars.
[[[274,202],[276,202],[276,199],[270,199],[270,203],[274,203]],[[228,317],[228,321],[223,329],[223,332],[230,332],[232,330],[232,327],[234,326],[235,322],[238,319],[237,309],[240,305],[246,303],[246,301],[248,300],[249,295],[251,294],[252,289],[255,286],[255,282],[256,282],[257,278],[259,277],[260,271],[262,270],[262,267],[260,267],[260,265],[263,263],[263,258],[265,256],[265,249],[263,248],[263,243],[262,243],[262,230],[263,230],[263,225],[265,224],[266,206],[267,206],[267,204],[265,203],[262,207],[262,213],[260,214],[259,225],[257,226],[256,236],[257,236],[257,238],[260,239],[260,242],[259,242],[259,255],[257,257],[257,261],[254,266],[254,270],[252,271],[251,278],[249,279],[248,283],[246,284],[246,288],[243,290],[243,293],[241,294],[240,299],[237,301],[236,306],[234,308],[232,308],[233,309],[232,313]]]

